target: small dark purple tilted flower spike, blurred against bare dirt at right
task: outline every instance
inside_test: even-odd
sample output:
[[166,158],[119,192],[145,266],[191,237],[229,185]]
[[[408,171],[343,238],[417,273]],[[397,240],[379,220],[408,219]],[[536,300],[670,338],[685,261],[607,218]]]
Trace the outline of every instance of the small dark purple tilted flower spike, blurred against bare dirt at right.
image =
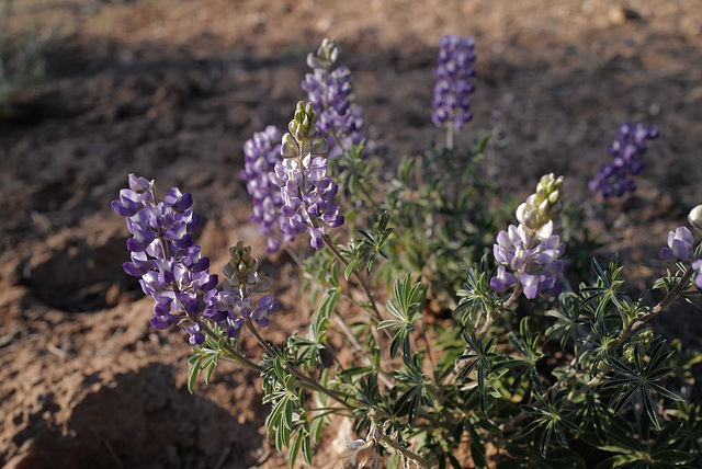
[[646,127],[642,123],[622,124],[616,140],[608,149],[614,161],[600,168],[600,172],[590,180],[590,191],[599,191],[604,198],[621,197],[636,191],[636,183],[632,176],[644,169],[644,162],[639,157],[646,152],[646,140],[657,137],[658,129],[655,126]]

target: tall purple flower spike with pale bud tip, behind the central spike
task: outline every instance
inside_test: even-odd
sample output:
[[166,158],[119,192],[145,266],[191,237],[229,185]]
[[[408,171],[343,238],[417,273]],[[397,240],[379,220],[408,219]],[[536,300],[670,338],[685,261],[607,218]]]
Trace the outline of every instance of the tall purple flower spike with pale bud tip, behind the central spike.
[[352,146],[365,139],[363,108],[355,104],[351,71],[341,66],[331,70],[340,48],[333,39],[325,38],[317,54],[307,56],[313,73],[305,75],[301,83],[307,99],[319,116],[317,129],[329,136],[329,157],[338,158]]

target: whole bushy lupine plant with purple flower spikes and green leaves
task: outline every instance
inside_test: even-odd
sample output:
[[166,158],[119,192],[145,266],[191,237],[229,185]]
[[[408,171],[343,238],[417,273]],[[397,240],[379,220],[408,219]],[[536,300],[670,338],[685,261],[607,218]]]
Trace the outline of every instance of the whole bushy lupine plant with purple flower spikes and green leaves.
[[[193,197],[174,187],[159,201],[154,181],[128,176],[112,204],[132,233],[124,270],[154,298],[151,324],[188,333],[189,389],[220,358],[259,373],[268,436],[291,466],[299,455],[319,466],[324,427],[350,419],[358,439],[340,455],[344,468],[701,468],[692,367],[702,356],[650,320],[677,300],[699,307],[702,205],[661,248],[670,270],[655,294],[632,297],[616,255],[574,277],[570,250],[588,244],[564,216],[563,176],[544,175],[514,211],[488,208],[489,136],[465,152],[451,142],[468,121],[473,39],[444,36],[440,48],[433,121],[450,127],[446,145],[398,161],[395,178],[377,178],[356,138],[361,110],[349,70],[330,71],[339,48],[329,39],[308,58],[310,102],[297,103],[288,131],[269,127],[246,144],[251,220],[269,253],[298,262],[314,309],[282,343],[265,339],[280,306],[250,248],[230,249],[219,285],[193,239]],[[616,170],[598,188],[630,190],[616,171],[635,172],[655,136],[621,127]],[[308,242],[296,240],[303,232]],[[240,351],[245,333],[260,354]]]

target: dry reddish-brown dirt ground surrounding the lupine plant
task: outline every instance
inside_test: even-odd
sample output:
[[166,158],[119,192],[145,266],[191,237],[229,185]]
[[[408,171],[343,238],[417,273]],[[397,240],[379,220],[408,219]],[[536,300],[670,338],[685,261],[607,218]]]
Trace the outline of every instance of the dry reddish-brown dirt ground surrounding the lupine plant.
[[[11,96],[0,122],[0,466],[284,467],[267,442],[258,379],[222,364],[185,387],[189,346],[150,329],[151,304],[122,272],[124,220],[110,201],[129,172],[191,192],[200,242],[224,265],[248,222],[239,176],[253,131],[284,127],[304,99],[304,58],[343,48],[371,137],[392,168],[440,139],[432,68],[444,33],[473,35],[475,121],[500,125],[491,162],[505,195],[566,176],[592,229],[622,253],[636,288],[663,272],[667,231],[702,203],[702,9],[695,0],[16,1],[16,22],[54,34],[47,81]],[[60,28],[56,26],[59,25]],[[44,31],[44,30],[42,30]],[[602,208],[587,181],[625,121],[656,124],[639,191]],[[283,308],[270,336],[305,327],[297,281],[263,267]],[[643,265],[634,268],[633,265]],[[679,316],[678,316],[679,314]],[[666,324],[700,350],[700,321]],[[683,318],[683,319],[680,319]],[[699,318],[699,317],[698,317]],[[253,350],[251,353],[254,353]],[[350,435],[349,435],[350,437]],[[317,461],[329,453],[330,438]]]

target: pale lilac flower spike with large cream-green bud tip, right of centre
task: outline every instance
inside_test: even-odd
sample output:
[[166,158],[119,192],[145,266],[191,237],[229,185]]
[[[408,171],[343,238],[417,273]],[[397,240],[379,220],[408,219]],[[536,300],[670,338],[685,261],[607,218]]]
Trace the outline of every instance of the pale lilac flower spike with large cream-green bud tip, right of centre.
[[565,244],[556,234],[563,226],[562,190],[563,176],[544,175],[536,192],[517,209],[519,226],[510,225],[507,231],[499,232],[492,252],[501,265],[490,279],[494,290],[501,293],[520,284],[530,299],[537,295],[554,297],[563,290],[563,284],[556,282],[563,272],[559,258],[565,252]]

